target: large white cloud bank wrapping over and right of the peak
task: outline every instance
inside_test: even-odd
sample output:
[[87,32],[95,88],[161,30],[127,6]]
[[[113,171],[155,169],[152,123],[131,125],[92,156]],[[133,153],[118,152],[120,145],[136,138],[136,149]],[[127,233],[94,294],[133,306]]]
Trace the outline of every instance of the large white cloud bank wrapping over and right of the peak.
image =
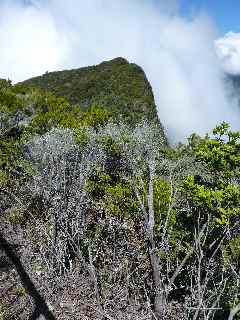
[[[157,4],[156,4],[157,3]],[[142,66],[170,141],[220,121],[239,128],[205,14],[178,14],[178,1],[32,0],[0,4],[0,77],[20,81],[122,56]]]

